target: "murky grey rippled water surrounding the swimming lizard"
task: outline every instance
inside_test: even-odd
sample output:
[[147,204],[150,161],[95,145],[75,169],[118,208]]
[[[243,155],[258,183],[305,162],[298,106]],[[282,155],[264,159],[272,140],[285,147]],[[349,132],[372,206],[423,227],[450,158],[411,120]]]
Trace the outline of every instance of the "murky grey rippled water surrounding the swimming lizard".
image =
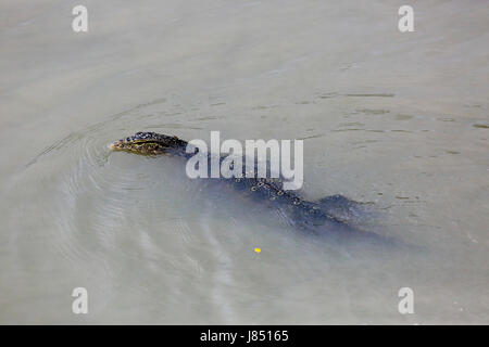
[[[77,4],[0,3],[0,323],[489,323],[487,1],[410,1],[404,34],[402,1],[87,0],[86,34]],[[416,250],[109,152],[143,130],[303,139],[304,196]]]

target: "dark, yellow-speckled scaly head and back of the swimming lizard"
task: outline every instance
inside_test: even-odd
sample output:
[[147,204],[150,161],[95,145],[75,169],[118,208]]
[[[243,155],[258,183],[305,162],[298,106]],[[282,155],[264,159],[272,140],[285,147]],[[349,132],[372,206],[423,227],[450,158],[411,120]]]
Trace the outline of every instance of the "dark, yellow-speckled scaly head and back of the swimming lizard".
[[[186,141],[177,137],[168,137],[155,132],[137,132],[131,137],[115,141],[111,144],[111,149],[140,155],[165,154],[189,158],[196,152],[186,153],[187,144]],[[356,232],[348,223],[348,218],[343,218],[344,215],[341,216],[341,214],[335,213],[338,202],[343,204],[347,210],[348,204],[353,202],[341,195],[329,196],[329,204],[309,202],[301,198],[293,191],[284,191],[279,179],[258,178],[256,171],[258,169],[254,168],[253,177],[244,177],[243,165],[242,178],[221,178],[221,180],[230,184],[236,191],[247,192],[253,200],[267,201],[268,204],[283,210],[290,221],[300,229],[315,230],[316,227],[323,226],[337,231]]]

